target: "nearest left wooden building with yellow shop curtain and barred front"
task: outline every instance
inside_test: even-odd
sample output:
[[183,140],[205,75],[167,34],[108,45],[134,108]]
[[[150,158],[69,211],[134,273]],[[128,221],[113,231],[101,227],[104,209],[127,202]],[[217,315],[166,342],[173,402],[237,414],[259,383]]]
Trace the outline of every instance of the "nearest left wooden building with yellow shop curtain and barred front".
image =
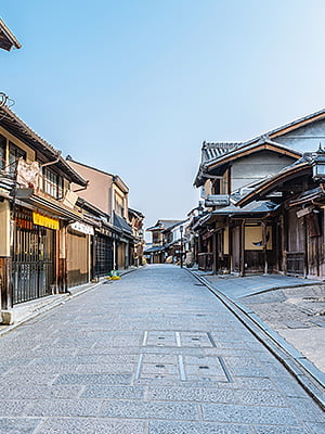
[[12,111],[0,108],[2,321],[14,306],[66,291],[67,227],[82,220],[72,183],[87,181]]

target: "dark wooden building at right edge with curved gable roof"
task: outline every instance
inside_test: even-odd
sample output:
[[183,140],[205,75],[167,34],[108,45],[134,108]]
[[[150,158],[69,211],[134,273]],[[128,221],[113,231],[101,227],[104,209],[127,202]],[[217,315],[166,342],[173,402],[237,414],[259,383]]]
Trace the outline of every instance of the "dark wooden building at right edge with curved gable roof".
[[238,206],[252,201],[277,203],[272,228],[274,270],[288,276],[325,278],[325,152],[308,153],[264,180]]

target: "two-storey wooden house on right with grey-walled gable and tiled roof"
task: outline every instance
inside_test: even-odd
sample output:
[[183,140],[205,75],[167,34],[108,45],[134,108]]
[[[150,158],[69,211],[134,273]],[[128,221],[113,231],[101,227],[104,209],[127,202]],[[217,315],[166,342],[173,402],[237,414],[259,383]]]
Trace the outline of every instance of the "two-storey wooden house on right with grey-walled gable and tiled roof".
[[[272,233],[268,219],[275,205],[265,202],[240,209],[236,203],[257,182],[291,164],[301,154],[263,138],[249,145],[204,143],[203,155],[195,186],[204,189],[205,216],[193,227],[198,234],[199,268],[242,276],[262,272],[263,256],[268,256],[269,267],[272,267]],[[268,238],[264,247],[263,237]],[[265,252],[261,254],[263,248]]]

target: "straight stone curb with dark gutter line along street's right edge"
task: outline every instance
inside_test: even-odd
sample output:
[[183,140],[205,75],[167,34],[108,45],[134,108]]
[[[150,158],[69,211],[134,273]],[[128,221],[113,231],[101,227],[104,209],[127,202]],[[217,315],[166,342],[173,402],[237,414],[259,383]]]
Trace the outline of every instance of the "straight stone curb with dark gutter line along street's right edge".
[[309,361],[298,349],[288,344],[273,329],[266,326],[251,309],[227,297],[207,279],[187,270],[213,293],[247,329],[283,363],[306,392],[325,410],[325,374]]

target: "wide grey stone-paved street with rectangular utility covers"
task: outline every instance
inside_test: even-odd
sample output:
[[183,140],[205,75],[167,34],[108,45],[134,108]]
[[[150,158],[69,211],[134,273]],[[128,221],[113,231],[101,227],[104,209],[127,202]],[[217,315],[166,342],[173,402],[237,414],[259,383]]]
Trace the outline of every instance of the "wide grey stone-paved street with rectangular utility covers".
[[296,380],[173,266],[26,322],[0,354],[1,434],[325,433]]

